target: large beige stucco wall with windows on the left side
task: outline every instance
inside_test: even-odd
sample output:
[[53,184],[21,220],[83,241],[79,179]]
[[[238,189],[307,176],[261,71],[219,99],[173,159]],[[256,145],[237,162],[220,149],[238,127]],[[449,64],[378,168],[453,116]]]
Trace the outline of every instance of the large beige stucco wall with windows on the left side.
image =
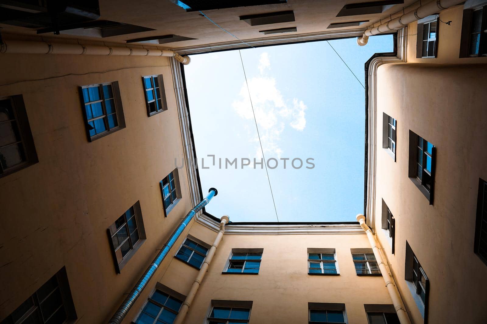
[[[159,181],[183,156],[169,59],[1,54],[0,70],[0,96],[23,95],[39,159],[0,178],[0,320],[66,266],[79,323],[102,323],[192,207],[182,169],[183,198],[164,218]],[[154,74],[169,109],[148,118],[141,77]],[[78,86],[110,81],[126,128],[90,143]],[[147,240],[116,274],[106,231],[137,200]]]

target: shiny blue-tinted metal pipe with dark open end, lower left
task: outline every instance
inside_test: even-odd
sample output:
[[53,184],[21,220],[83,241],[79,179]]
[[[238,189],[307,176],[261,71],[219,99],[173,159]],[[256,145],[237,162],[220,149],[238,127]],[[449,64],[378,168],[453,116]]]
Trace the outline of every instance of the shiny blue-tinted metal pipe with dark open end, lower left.
[[142,290],[146,288],[147,284],[149,283],[150,279],[156,272],[157,268],[161,265],[162,261],[164,258],[168,255],[169,250],[173,247],[174,243],[176,240],[179,238],[181,233],[183,233],[185,227],[187,224],[193,219],[194,215],[196,215],[197,212],[199,212],[203,207],[205,207],[213,198],[218,194],[217,189],[215,188],[210,188],[209,193],[206,196],[203,201],[201,201],[198,205],[194,206],[193,209],[191,209],[186,217],[183,219],[183,221],[179,224],[179,226],[176,228],[174,233],[169,237],[169,239],[166,241],[166,244],[164,244],[164,247],[161,249],[161,251],[157,254],[157,256],[154,258],[152,263],[150,263],[149,268],[144,272],[142,277],[140,277],[139,281],[137,281],[137,284],[127,298],[125,298],[124,302],[120,307],[118,307],[117,311],[115,314],[112,316],[112,319],[108,322],[109,324],[121,324],[125,316],[127,316],[127,313],[137,300],[139,298],[140,294],[142,293]]

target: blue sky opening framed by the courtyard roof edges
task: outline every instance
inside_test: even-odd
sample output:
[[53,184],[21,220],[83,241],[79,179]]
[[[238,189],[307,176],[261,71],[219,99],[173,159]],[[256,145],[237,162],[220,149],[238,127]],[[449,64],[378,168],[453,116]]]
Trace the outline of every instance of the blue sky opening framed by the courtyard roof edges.
[[[362,84],[364,63],[393,51],[392,35],[362,47],[356,38],[330,44]],[[241,53],[279,221],[355,221],[364,198],[362,85],[325,41]],[[201,185],[204,193],[218,189],[206,211],[233,222],[277,222],[265,168],[254,168],[262,152],[239,51],[192,55],[184,68]],[[214,166],[207,155],[215,155]]]

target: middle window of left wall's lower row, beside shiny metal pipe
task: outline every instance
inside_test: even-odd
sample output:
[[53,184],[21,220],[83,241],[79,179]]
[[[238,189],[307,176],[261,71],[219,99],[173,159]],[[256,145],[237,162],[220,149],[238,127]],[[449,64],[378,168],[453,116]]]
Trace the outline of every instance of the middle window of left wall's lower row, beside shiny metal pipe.
[[132,205],[110,226],[108,235],[112,244],[115,270],[120,273],[146,238],[139,202]]

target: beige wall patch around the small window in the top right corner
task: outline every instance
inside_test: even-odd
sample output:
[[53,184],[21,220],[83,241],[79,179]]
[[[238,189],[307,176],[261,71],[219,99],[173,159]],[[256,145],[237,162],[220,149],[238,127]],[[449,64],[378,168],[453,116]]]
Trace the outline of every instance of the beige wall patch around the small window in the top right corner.
[[[425,1],[426,2],[426,1]],[[464,57],[459,58],[460,39],[462,34],[463,4],[442,10],[439,13],[441,20],[450,25],[439,23],[437,46],[438,55],[436,58],[416,58],[416,39],[423,35],[417,35],[417,22],[408,25],[408,47],[407,59],[411,63],[427,64],[486,64],[487,57]]]

